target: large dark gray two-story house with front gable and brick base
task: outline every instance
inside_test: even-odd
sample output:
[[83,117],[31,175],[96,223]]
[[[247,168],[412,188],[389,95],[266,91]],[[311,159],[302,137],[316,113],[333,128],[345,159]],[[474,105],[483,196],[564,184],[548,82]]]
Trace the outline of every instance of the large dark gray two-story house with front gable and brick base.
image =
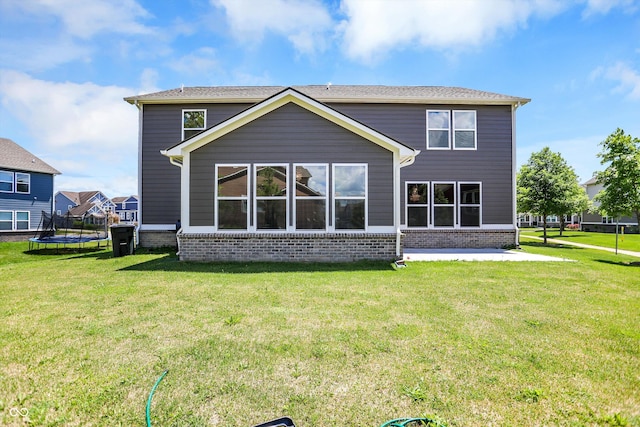
[[340,261],[517,244],[515,112],[529,99],[328,85],[125,100],[139,109],[142,246]]

